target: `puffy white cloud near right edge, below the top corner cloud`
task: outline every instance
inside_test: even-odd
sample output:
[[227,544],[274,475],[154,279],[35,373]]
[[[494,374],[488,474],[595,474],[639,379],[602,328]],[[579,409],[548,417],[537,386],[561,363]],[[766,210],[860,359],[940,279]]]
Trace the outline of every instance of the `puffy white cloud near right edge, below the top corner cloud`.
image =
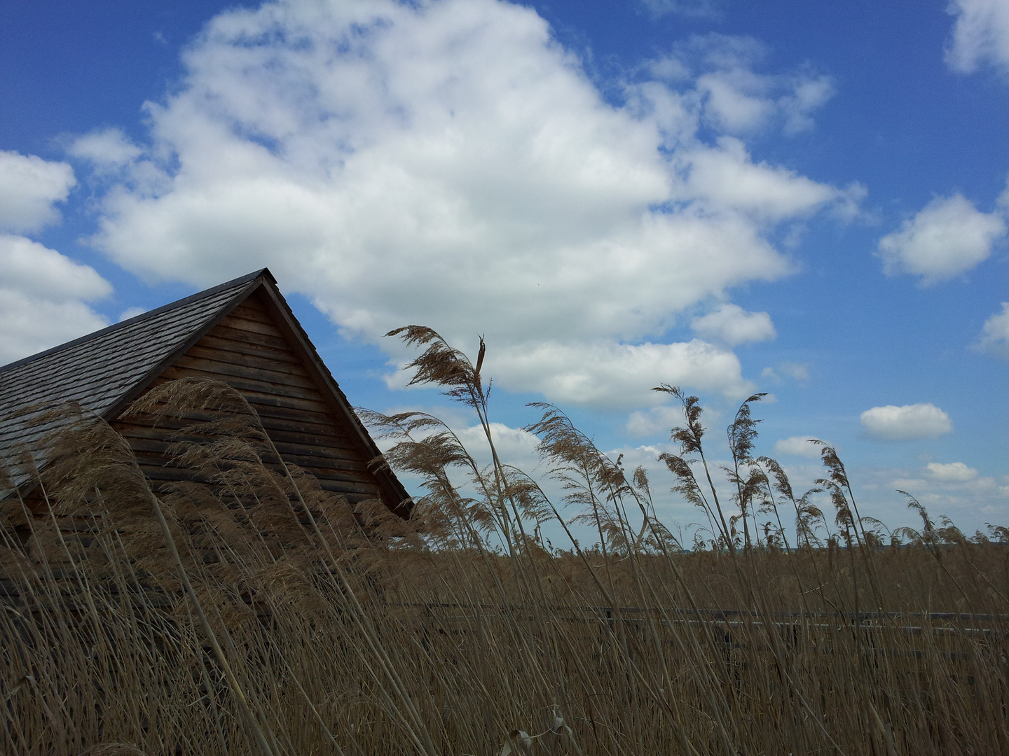
[[922,285],[952,278],[985,260],[1006,234],[997,213],[981,213],[961,195],[937,197],[899,231],[880,239],[887,275],[920,275]]

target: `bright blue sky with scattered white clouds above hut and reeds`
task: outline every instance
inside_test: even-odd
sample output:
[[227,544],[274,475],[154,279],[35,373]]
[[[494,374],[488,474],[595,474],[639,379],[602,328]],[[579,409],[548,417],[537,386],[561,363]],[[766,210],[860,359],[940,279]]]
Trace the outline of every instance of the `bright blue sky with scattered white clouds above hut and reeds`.
[[485,334],[524,467],[546,398],[665,490],[650,387],[715,457],[760,390],[797,488],[816,436],[888,523],[1009,521],[1004,3],[0,14],[0,362],[268,266],[360,405],[443,406],[385,331]]

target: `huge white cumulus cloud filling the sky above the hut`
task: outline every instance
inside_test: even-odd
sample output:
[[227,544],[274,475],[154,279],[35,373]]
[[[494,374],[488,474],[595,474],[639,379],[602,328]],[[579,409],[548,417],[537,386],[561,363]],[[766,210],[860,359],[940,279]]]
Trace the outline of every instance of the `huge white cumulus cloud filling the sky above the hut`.
[[[714,46],[703,73],[745,68]],[[423,323],[472,350],[483,332],[499,385],[556,401],[624,406],[657,380],[750,390],[732,352],[666,333],[788,274],[778,224],[852,202],[702,141],[700,68],[607,103],[520,5],[266,3],[215,18],[184,62],[141,155],[117,133],[77,146],[132,161],[98,248],[195,285],[268,265],[351,338]],[[762,95],[775,112],[816,100],[793,84]]]

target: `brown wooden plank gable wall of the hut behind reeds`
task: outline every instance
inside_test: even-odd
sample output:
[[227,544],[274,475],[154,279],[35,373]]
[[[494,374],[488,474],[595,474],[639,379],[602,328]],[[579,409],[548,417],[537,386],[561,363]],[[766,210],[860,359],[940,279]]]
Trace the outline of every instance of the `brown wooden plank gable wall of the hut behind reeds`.
[[[253,293],[193,346],[161,380],[216,378],[239,390],[288,463],[314,475],[323,489],[351,503],[379,496],[368,471],[368,452],[354,428],[335,414],[301,359]],[[160,382],[160,381],[158,381]],[[155,483],[187,479],[189,471],[165,466],[172,425],[116,420],[144,474]],[[396,506],[399,502],[385,502]]]

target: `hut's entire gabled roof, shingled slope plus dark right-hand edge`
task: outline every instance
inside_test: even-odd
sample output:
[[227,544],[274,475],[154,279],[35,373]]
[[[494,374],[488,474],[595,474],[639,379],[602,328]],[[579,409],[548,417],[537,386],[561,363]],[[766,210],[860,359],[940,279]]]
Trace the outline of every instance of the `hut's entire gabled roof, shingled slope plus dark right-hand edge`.
[[[39,460],[42,442],[57,426],[32,420],[47,406],[77,401],[112,420],[228,312],[260,289],[335,412],[350,420],[369,459],[378,457],[377,447],[276,288],[276,280],[263,268],[0,367],[0,462],[10,465],[27,449],[44,464]],[[24,412],[25,407],[38,409]],[[409,499],[389,471],[376,475],[386,503],[395,507]],[[18,486],[25,482],[15,480]]]

